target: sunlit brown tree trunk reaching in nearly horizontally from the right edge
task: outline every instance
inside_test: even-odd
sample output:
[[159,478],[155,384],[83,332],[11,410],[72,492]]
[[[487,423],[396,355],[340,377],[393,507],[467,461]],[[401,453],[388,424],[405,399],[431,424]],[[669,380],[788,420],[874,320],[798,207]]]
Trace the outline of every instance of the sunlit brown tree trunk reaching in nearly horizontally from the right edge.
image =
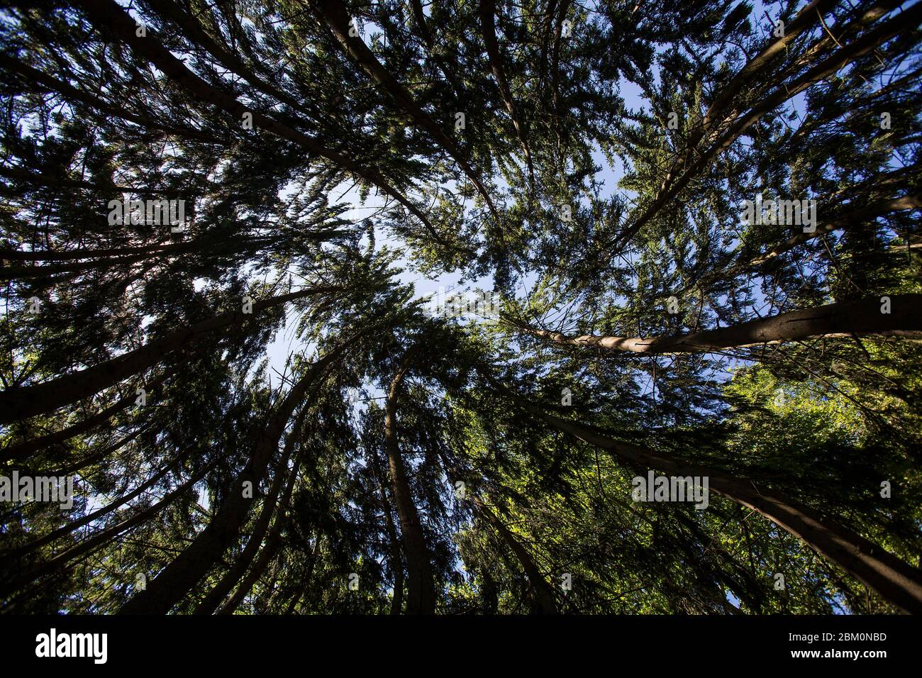
[[922,294],[893,294],[887,298],[890,300],[890,313],[881,313],[884,305],[881,297],[874,297],[791,311],[730,327],[651,339],[597,335],[567,337],[547,329],[516,327],[562,346],[593,346],[610,351],[655,354],[739,349],[811,337],[922,337]]

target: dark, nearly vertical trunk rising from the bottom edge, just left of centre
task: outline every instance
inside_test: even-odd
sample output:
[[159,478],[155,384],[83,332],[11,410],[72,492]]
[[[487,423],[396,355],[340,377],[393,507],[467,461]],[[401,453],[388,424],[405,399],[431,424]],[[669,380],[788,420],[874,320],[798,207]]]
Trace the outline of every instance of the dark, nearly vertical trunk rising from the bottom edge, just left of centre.
[[409,369],[409,356],[391,379],[384,410],[384,446],[391,471],[391,487],[400,517],[404,553],[407,555],[407,613],[435,613],[435,586],[432,565],[420,524],[420,514],[413,504],[413,494],[404,468],[396,433],[397,394]]

